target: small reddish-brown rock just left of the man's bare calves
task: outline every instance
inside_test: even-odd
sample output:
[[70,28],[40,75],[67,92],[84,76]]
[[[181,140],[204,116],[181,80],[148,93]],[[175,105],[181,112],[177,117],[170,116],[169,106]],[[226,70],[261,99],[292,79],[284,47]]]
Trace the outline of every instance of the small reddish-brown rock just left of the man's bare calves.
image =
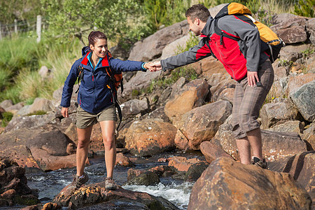
[[221,146],[212,144],[210,141],[202,142],[202,144],[200,144],[200,151],[209,163],[221,157],[233,159],[230,155],[223,151],[223,148],[221,148]]

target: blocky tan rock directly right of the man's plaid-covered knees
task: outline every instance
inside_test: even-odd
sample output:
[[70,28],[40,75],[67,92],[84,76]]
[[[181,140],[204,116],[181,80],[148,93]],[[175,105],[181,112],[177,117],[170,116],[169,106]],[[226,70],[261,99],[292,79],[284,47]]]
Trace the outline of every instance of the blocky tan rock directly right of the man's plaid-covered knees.
[[262,106],[260,111],[261,127],[267,129],[279,121],[297,120],[297,109],[290,99],[277,98],[272,103]]

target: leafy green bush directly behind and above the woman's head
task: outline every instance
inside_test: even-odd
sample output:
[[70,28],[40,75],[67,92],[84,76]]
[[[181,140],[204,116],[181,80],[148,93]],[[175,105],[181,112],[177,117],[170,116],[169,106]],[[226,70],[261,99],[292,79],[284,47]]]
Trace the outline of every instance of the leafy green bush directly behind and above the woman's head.
[[141,3],[137,0],[41,0],[41,3],[49,17],[49,35],[62,43],[75,37],[84,41],[95,29],[120,43],[134,43],[150,32],[146,20],[141,19]]

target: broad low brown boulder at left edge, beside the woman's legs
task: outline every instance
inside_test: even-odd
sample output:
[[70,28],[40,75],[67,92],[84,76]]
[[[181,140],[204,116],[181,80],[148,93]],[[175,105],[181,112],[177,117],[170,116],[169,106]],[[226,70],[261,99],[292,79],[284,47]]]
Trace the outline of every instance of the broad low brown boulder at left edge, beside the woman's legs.
[[73,143],[59,130],[22,128],[1,134],[0,144],[1,154],[18,161],[22,167],[51,171],[76,166],[76,155],[69,155],[67,150]]

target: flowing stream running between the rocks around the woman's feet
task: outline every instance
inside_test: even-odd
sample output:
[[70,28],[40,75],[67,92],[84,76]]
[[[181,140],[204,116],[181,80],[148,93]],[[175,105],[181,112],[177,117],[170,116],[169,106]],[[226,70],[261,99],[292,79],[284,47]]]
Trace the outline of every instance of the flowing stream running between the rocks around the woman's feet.
[[[134,156],[128,156],[130,158],[137,158],[134,161],[134,169],[149,169],[151,167],[159,165],[168,165],[167,162],[158,162],[159,158],[170,158],[173,156],[183,156],[188,159],[198,158],[204,159],[204,156],[200,152],[190,151],[184,153],[183,151],[175,151],[173,153],[162,153],[160,155],[154,155],[151,158],[139,158]],[[127,182],[127,171],[131,167],[116,166],[114,169],[114,179],[116,183],[123,186]],[[106,176],[106,167],[104,158],[92,158],[90,159],[90,165],[85,168],[85,172],[90,177],[88,183],[99,183],[104,180]],[[76,169],[59,169],[53,172],[33,172],[26,174],[27,185],[31,189],[38,189],[38,199],[42,203],[51,202],[52,199],[64,188],[69,185],[73,179],[73,175],[76,173]],[[126,190],[133,190],[139,192],[145,192],[150,195],[161,196],[172,202],[172,204],[179,207],[179,209],[187,209],[190,191],[193,188],[194,183],[185,182],[181,179],[172,179],[172,177],[160,178],[158,186],[134,186],[125,185],[123,188]]]

